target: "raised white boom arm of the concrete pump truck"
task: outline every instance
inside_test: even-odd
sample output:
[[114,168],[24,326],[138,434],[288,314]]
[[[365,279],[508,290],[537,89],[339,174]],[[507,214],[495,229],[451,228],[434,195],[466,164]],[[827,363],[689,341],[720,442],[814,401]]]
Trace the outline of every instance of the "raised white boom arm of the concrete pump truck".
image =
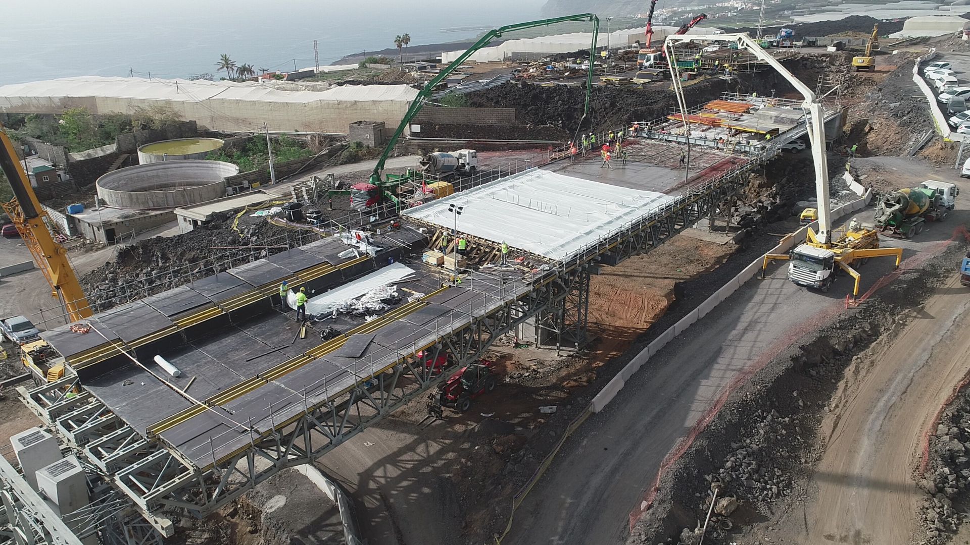
[[775,57],[762,49],[747,33],[712,36],[671,34],[663,42],[663,48],[666,49],[667,58],[673,58],[670,55],[671,48],[675,43],[691,42],[734,42],[737,44],[739,50],[742,48],[748,49],[751,54],[768,63],[782,77],[789,80],[792,86],[805,98],[802,102],[802,108],[809,113],[807,119],[808,127],[806,128],[808,130],[809,142],[812,144],[812,159],[815,161],[815,193],[819,199],[819,231],[816,235],[816,240],[822,244],[828,243],[832,224],[828,204],[828,163],[825,161],[825,117],[822,110],[822,101],[816,98],[812,89],[809,89],[805,83],[795,78],[787,68],[782,66]]

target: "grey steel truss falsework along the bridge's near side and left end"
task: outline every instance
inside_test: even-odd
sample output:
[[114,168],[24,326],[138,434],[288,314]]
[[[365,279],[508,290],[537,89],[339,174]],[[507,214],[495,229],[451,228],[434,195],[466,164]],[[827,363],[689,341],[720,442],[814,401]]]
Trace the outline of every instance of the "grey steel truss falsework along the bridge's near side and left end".
[[[582,342],[591,274],[604,264],[650,251],[694,225],[743,187],[751,169],[769,158],[765,153],[739,160],[717,178],[604,233],[575,258],[551,264],[548,271],[525,280],[473,273],[463,283],[468,288],[441,288],[391,310],[387,315],[391,318],[412,315],[458,290],[468,291],[466,295],[474,299],[467,307],[449,308],[428,335],[400,339],[393,357],[381,360],[379,366],[370,362],[354,369],[352,382],[339,392],[322,399],[305,392],[295,415],[272,423],[268,432],[250,428],[242,448],[221,455],[213,447],[209,464],[187,457],[163,436],[139,433],[87,391],[77,374],[34,388],[21,387],[19,393],[28,407],[87,465],[100,496],[74,516],[83,516],[85,524],[51,522],[43,512],[44,501],[29,487],[12,484],[17,479],[11,472],[16,470],[4,468],[0,497],[7,517],[0,521],[5,527],[0,535],[32,536],[15,538],[18,543],[73,544],[94,534],[103,543],[160,543],[174,533],[170,520],[174,514],[206,516],[279,470],[313,462],[404,403],[425,395],[452,370],[477,361],[496,338],[527,321],[551,334],[557,344]],[[270,296],[260,293],[258,298]],[[380,325],[385,323],[390,322],[385,319]],[[447,352],[453,358],[448,367],[437,371],[419,363],[415,354],[422,350],[433,356]],[[68,392],[80,393],[68,397]],[[84,528],[77,530],[80,527]]]

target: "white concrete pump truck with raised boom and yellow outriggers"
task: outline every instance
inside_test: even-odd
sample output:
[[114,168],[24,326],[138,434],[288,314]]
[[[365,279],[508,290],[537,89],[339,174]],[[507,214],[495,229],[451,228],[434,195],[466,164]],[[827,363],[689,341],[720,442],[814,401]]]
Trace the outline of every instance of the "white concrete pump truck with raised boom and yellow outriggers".
[[[880,248],[879,235],[872,226],[863,226],[851,222],[847,229],[832,230],[829,197],[828,197],[828,168],[825,161],[825,119],[822,101],[807,85],[792,75],[776,58],[760,48],[747,33],[721,34],[718,36],[683,35],[667,36],[664,47],[670,48],[679,42],[714,42],[728,41],[737,44],[737,48],[748,51],[766,64],[778,71],[804,97],[802,108],[808,112],[808,138],[812,144],[812,159],[815,163],[815,191],[818,197],[818,228],[814,231],[808,228],[803,244],[798,244],[788,254],[767,254],[761,266],[761,276],[772,260],[790,260],[788,277],[800,286],[818,288],[828,291],[828,286],[835,279],[835,272],[839,269],[848,272],[856,280],[853,295],[858,295],[859,273],[852,264],[861,264],[870,257],[895,256],[896,267],[902,260],[902,248]],[[683,101],[678,96],[678,101]],[[683,105],[683,102],[681,102]],[[686,110],[686,109],[685,109]]]

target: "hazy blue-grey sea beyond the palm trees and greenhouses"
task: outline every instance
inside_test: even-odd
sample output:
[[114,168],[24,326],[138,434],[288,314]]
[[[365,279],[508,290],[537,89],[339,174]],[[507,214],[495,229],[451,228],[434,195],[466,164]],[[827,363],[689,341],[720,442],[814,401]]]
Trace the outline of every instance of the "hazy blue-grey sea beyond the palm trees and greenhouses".
[[[271,70],[346,54],[473,38],[479,28],[539,18],[544,0],[45,0],[9,2],[0,33],[0,84],[68,76],[218,77],[228,53]],[[455,31],[454,29],[462,29]],[[442,29],[452,30],[442,32]],[[295,62],[294,62],[295,60]]]

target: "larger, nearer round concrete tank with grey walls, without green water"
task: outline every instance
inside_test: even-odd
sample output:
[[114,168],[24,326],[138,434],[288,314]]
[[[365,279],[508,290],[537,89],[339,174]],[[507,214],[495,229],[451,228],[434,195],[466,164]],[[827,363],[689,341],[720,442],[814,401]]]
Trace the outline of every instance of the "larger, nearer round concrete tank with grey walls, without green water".
[[98,178],[98,198],[114,208],[178,208],[226,196],[226,176],[240,169],[222,161],[165,161]]

